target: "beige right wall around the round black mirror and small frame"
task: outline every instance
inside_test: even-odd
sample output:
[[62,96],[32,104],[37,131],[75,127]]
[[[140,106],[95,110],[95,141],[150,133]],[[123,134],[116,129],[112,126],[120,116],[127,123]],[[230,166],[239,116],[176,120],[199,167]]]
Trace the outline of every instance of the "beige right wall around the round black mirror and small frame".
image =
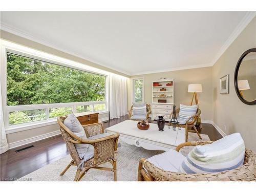
[[[240,101],[234,90],[234,69],[239,57],[256,47],[256,17],[212,67],[214,122],[226,133],[240,132],[247,147],[256,150],[256,105]],[[229,95],[219,91],[220,77],[229,74]]]

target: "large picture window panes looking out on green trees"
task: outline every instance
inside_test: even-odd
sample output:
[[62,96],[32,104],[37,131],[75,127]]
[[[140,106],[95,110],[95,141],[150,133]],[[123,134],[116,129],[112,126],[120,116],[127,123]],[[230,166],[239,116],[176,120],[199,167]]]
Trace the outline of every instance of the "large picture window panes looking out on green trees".
[[13,53],[6,58],[9,125],[106,110],[104,75]]

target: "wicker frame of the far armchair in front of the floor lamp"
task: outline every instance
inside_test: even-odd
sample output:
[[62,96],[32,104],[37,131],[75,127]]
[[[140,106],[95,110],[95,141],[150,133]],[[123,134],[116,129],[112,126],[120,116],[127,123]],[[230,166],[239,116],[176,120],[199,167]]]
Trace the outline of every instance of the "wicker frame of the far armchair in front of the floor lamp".
[[[180,108],[176,109],[176,114],[180,113]],[[186,129],[186,142],[188,140],[188,132],[193,132],[193,133],[197,133],[198,137],[200,139],[202,139],[201,135],[199,134],[199,132],[197,131],[197,127],[195,126],[195,122],[197,121],[197,119],[199,118],[201,114],[201,110],[198,108],[197,109],[197,113],[191,117],[189,117],[186,121],[185,124],[180,124],[181,127]],[[173,116],[173,112],[170,113],[170,119]],[[192,119],[192,120],[191,120]],[[191,121],[190,121],[191,120]],[[190,121],[190,122],[189,122]],[[169,122],[169,126],[172,126],[172,123]]]

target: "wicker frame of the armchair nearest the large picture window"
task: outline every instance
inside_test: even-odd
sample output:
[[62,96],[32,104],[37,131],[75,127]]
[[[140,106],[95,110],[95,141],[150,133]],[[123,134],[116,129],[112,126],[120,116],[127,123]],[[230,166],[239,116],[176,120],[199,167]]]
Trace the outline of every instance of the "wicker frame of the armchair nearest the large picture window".
[[[104,133],[103,123],[99,122],[89,125],[82,125],[88,138],[81,139],[77,137],[67,126],[65,126],[65,124],[63,124],[63,121],[65,119],[66,117],[58,117],[57,121],[63,140],[66,142],[66,145],[72,157],[72,161],[60,173],[60,176],[64,175],[70,166],[77,166],[82,161],[78,156],[74,143],[87,143],[94,146],[94,157],[87,161],[84,161],[83,167],[77,169],[74,181],[80,181],[90,168],[110,170],[114,172],[114,181],[116,181],[117,141],[119,138],[119,134],[113,134],[99,139],[90,139],[90,137],[92,136]],[[110,162],[113,168],[98,166],[105,162]]]

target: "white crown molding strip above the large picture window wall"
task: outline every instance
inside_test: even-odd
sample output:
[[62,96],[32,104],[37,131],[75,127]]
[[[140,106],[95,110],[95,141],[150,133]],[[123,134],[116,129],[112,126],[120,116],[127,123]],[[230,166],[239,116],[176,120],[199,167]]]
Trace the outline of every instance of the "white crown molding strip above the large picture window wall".
[[116,69],[115,67],[109,67],[108,65],[105,65],[105,64],[102,64],[101,62],[98,62],[98,61],[95,61],[94,59],[91,59],[89,57],[83,57],[81,55],[78,55],[77,53],[73,52],[71,49],[65,47],[65,46],[58,46],[57,44],[53,44],[52,42],[50,41],[47,41],[45,39],[42,39],[42,38],[38,38],[38,37],[35,37],[23,30],[20,30],[16,27],[13,27],[13,26],[10,26],[4,22],[1,22],[1,30],[3,31],[6,31],[6,32],[9,32],[9,33],[12,33],[14,35],[17,35],[17,36],[20,36],[20,37],[23,37],[23,38],[26,38],[26,39],[29,39],[31,41],[34,41],[34,42],[37,42],[38,44],[41,44],[41,45],[44,45],[44,46],[48,46],[50,48],[53,48],[53,49],[56,49],[58,51],[62,51],[62,52],[65,52],[67,54],[70,54],[72,56],[76,56],[76,57],[79,57],[81,59],[84,59],[84,60],[87,60],[89,62],[93,62],[99,66],[103,66],[105,68],[108,68],[108,69],[111,69],[111,70],[114,70],[114,71],[117,71],[119,73],[123,73],[125,75],[128,75],[128,76],[131,76],[131,74],[127,71],[123,71],[123,70],[119,70],[119,69]]

